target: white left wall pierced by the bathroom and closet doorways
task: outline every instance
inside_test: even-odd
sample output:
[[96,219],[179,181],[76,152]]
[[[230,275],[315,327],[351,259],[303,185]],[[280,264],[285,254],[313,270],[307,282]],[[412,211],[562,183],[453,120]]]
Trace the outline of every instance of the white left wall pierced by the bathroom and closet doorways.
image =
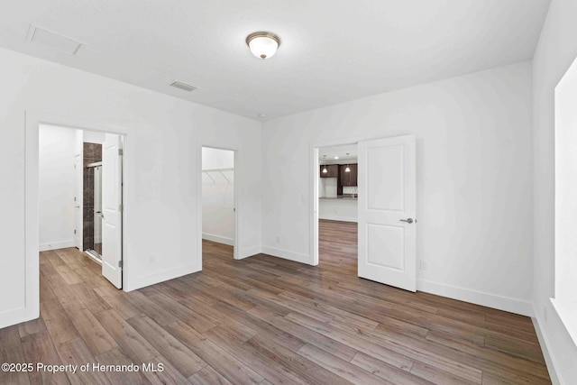
[[0,327],[38,316],[38,237],[24,237],[24,218],[35,209],[24,206],[25,192],[33,198],[24,167],[27,157],[31,170],[37,159],[25,152],[35,145],[34,119],[127,134],[125,289],[201,268],[202,142],[238,148],[237,172],[250,173],[238,182],[239,252],[260,252],[261,124],[10,50],[0,50],[0,62],[0,178],[10,181],[0,185]]

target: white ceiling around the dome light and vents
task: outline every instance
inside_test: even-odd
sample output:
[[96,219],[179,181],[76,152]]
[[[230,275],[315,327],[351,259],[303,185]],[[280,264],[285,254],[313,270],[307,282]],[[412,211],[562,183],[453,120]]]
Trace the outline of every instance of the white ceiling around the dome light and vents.
[[[529,60],[549,0],[19,0],[0,47],[266,119]],[[31,23],[87,43],[26,41]],[[244,40],[279,35],[270,60]],[[179,79],[198,89],[169,87]]]

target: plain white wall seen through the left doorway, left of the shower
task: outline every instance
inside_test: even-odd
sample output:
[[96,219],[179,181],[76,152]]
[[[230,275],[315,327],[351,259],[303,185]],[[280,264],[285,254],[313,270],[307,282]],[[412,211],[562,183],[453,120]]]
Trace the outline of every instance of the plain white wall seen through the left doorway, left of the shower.
[[38,214],[40,250],[74,246],[77,130],[41,124]]

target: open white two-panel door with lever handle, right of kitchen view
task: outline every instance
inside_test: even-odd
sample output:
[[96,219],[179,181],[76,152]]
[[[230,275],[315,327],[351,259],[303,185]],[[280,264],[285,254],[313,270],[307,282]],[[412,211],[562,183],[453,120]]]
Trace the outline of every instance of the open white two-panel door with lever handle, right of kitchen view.
[[417,290],[414,135],[359,142],[359,277]]

